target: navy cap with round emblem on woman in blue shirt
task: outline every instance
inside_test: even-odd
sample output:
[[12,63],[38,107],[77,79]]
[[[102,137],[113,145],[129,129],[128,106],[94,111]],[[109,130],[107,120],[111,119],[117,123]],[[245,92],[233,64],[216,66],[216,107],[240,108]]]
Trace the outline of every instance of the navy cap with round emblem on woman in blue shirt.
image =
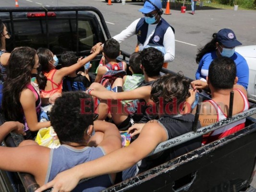
[[232,47],[242,45],[242,43],[236,40],[236,36],[231,29],[219,30],[216,36],[216,40],[227,48],[232,48]]

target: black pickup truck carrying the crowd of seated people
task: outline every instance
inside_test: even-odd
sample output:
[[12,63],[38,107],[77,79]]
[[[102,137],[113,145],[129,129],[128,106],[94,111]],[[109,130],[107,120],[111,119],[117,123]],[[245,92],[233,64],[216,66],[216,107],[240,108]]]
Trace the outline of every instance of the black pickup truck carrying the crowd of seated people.
[[[25,12],[45,12],[46,16],[28,18]],[[48,17],[49,12],[56,12],[56,17]],[[88,14],[88,12],[92,13]],[[90,48],[96,42],[104,42],[105,39],[110,38],[103,15],[92,7],[0,8],[0,18],[12,33],[8,42],[10,50],[16,45],[25,46],[28,42],[34,48],[37,48],[38,45],[47,48],[60,47],[59,40],[56,41],[51,37],[56,33],[61,33],[61,31],[50,30],[56,20],[65,21],[65,25],[69,26],[70,31],[67,33],[72,36],[72,46],[64,48],[75,51],[77,57],[88,55]],[[100,23],[98,23],[98,18]],[[21,25],[17,24],[20,21],[27,23],[27,26],[30,26],[31,21],[39,22],[39,37],[45,36],[42,38],[44,41],[40,41],[38,44],[39,39],[35,34],[26,34],[29,30],[22,31],[19,28]],[[84,21],[89,23],[85,24]],[[91,28],[88,30],[88,27]],[[33,43],[31,41],[33,38],[28,38],[28,36],[37,38],[37,41]],[[59,39],[59,35],[57,37]],[[20,41],[20,39],[24,41]],[[93,60],[94,69],[97,67],[100,57]],[[128,58],[129,54],[121,51],[120,59],[128,60]],[[162,72],[173,73],[166,69],[162,69]],[[200,98],[204,97],[200,95]],[[256,104],[256,102],[254,103]],[[105,192],[239,192],[242,190],[253,192],[255,189],[250,186],[250,183],[256,172],[256,120],[250,116],[254,114],[256,114],[256,107],[252,106],[249,110],[231,119],[217,122],[159,144],[153,153],[181,144],[241,118],[246,118],[246,127],[243,130],[172,159],[130,180],[118,183],[106,189]],[[0,120],[3,119],[0,118]],[[0,121],[1,123],[2,121]],[[20,135],[10,134],[5,139],[5,145],[14,147],[22,139]],[[0,192],[34,192],[37,187],[38,184],[30,174],[0,170]]]

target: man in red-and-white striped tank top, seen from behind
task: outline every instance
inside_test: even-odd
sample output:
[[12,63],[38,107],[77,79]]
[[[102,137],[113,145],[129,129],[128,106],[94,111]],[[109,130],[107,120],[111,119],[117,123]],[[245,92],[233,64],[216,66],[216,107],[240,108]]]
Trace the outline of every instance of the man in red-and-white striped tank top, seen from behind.
[[[219,120],[226,119],[229,112],[230,92],[234,92],[232,115],[236,115],[249,108],[247,92],[244,86],[237,84],[236,65],[227,57],[213,60],[209,67],[207,82],[193,81],[191,85],[196,88],[210,88],[212,99],[202,104],[199,120],[202,126],[207,126]],[[203,137],[203,144],[211,143],[217,139],[228,136],[245,127],[245,119],[209,132]]]

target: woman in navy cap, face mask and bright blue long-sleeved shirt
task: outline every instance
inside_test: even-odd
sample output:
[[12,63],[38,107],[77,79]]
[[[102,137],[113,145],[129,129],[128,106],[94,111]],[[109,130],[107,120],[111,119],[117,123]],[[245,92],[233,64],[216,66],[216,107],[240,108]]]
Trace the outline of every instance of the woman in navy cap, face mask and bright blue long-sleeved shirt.
[[221,29],[218,33],[212,35],[212,40],[203,48],[199,48],[196,55],[196,63],[199,63],[195,73],[195,79],[206,81],[208,69],[211,62],[217,57],[229,57],[236,64],[237,84],[243,85],[245,89],[249,82],[249,68],[242,55],[235,52],[235,47],[242,45],[231,29]]

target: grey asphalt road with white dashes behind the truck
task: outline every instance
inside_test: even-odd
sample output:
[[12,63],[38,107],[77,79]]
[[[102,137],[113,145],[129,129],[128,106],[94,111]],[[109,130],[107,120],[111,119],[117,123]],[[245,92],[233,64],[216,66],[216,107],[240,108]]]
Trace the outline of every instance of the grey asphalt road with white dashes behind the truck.
[[[18,0],[19,6],[93,6],[104,15],[111,36],[120,33],[135,19],[142,17],[138,12],[142,2],[126,1],[107,5],[105,0]],[[15,1],[1,0],[0,6],[15,6]],[[165,12],[165,9],[163,9]],[[195,63],[197,49],[210,41],[213,33],[222,28],[230,28],[235,32],[237,39],[246,45],[256,45],[256,11],[233,11],[213,9],[207,3],[201,8],[197,6],[195,14],[191,14],[190,5],[187,11],[181,13],[181,4],[171,4],[171,15],[162,17],[175,28],[175,60],[169,63],[169,69],[195,78],[198,65]],[[132,53],[136,44],[136,36],[121,44],[121,49]]]

